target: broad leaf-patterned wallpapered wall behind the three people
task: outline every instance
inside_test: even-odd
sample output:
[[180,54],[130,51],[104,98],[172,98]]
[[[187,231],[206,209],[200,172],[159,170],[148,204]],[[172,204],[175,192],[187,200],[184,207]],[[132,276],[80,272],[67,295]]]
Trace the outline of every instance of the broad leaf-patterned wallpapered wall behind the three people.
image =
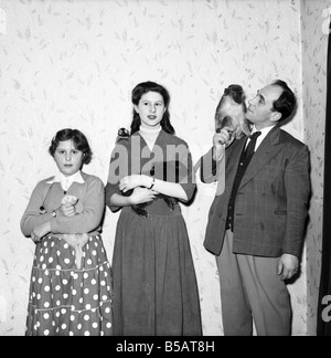
[[[196,161],[224,87],[239,83],[249,98],[280,77],[300,103],[286,130],[303,139],[299,0],[0,0],[0,335],[24,333],[33,244],[19,222],[36,181],[55,170],[56,130],[87,135],[85,170],[106,182],[116,133],[131,120],[130,92],[152,80],[170,91],[172,124]],[[204,335],[223,334],[215,260],[202,246],[214,190],[199,182],[183,207]],[[107,211],[109,260],[117,218]],[[303,270],[290,286],[295,335],[306,333],[306,289]]]

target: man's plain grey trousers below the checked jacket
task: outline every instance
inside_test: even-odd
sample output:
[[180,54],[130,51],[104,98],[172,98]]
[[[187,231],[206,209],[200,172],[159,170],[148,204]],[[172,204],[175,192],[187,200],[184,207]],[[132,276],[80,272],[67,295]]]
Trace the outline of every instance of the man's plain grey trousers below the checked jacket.
[[233,232],[227,230],[216,257],[225,336],[289,336],[290,296],[277,274],[279,257],[234,254]]

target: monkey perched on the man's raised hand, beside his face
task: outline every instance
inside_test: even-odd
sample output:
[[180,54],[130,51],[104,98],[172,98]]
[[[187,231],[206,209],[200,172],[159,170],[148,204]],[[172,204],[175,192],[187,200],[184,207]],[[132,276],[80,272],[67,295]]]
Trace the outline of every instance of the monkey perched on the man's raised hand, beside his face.
[[228,86],[225,88],[216,108],[216,131],[224,127],[228,127],[237,139],[241,138],[243,134],[249,135],[249,126],[245,118],[245,114],[246,105],[243,87],[239,85]]

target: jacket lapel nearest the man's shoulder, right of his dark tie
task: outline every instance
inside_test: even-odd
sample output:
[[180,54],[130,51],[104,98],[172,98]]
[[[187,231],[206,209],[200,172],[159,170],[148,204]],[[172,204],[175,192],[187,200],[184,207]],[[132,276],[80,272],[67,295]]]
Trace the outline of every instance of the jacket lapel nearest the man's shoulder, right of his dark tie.
[[270,161],[273,157],[282,148],[279,145],[280,129],[276,126],[267,137],[263,140],[260,146],[254,154],[246,172],[241,182],[241,188],[243,188],[249,180],[252,180],[265,166]]

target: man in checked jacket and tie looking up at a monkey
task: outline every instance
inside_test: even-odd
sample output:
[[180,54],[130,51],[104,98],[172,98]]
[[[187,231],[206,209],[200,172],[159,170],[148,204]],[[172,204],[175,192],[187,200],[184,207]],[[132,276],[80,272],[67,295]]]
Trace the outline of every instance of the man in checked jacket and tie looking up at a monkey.
[[204,246],[216,255],[224,334],[252,335],[254,322],[259,336],[287,336],[291,305],[285,281],[299,270],[309,151],[280,129],[297,103],[284,81],[259,90],[248,103],[252,136],[232,141],[223,128],[202,158],[201,179],[212,182],[227,145],[225,189],[210,209]]

